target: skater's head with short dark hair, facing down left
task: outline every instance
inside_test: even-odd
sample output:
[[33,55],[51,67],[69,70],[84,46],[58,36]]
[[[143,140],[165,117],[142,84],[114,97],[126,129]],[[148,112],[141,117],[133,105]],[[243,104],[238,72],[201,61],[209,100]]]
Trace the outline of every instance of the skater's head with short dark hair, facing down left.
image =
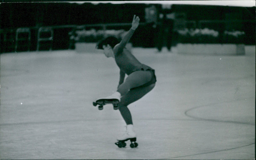
[[113,57],[113,48],[118,44],[118,40],[116,37],[110,36],[101,41],[99,41],[96,45],[97,49],[104,50],[104,54],[106,57]]

